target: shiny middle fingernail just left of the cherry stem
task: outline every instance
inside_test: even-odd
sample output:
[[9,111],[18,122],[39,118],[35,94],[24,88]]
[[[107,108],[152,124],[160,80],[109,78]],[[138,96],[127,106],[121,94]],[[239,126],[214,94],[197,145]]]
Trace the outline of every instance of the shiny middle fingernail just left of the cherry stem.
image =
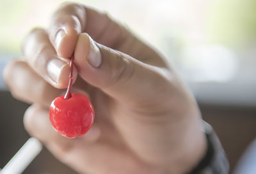
[[52,80],[58,83],[62,69],[65,68],[65,66],[67,65],[67,62],[63,62],[60,59],[52,59],[51,61],[49,61],[49,63],[47,64],[47,71],[51,76]]

